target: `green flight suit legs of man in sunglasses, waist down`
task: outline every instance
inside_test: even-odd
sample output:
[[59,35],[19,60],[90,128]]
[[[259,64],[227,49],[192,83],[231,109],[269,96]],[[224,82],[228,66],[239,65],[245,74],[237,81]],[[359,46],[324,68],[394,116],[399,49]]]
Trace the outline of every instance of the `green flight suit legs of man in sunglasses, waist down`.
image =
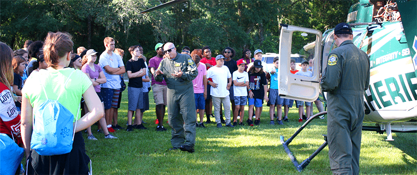
[[195,100],[192,86],[168,88],[168,123],[172,128],[171,144],[174,147],[195,144]]

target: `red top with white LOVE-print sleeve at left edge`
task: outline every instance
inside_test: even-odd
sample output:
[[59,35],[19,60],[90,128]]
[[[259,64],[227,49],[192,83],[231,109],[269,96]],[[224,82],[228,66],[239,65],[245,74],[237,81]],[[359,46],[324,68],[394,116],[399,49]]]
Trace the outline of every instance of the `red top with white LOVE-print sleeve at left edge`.
[[23,143],[20,134],[20,115],[10,89],[0,83],[0,133],[13,134],[17,144]]

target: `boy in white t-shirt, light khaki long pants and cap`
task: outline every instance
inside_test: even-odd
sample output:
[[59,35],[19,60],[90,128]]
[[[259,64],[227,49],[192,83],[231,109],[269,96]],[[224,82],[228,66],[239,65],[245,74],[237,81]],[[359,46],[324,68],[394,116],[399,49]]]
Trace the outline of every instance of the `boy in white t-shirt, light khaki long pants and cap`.
[[[232,86],[232,74],[229,68],[223,66],[225,57],[223,55],[216,56],[216,66],[207,70],[208,84],[211,86],[210,95],[213,101],[214,117],[216,118],[217,128],[222,127],[220,121],[220,104],[223,103],[225,108],[226,126],[234,127],[230,123],[230,97],[229,88]],[[211,80],[210,80],[211,78]],[[229,82],[229,83],[227,83]]]

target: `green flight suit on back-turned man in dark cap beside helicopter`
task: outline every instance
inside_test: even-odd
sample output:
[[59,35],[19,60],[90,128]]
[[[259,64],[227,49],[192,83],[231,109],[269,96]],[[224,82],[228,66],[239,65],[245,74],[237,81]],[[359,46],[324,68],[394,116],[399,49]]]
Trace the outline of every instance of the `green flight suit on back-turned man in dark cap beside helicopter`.
[[369,57],[351,40],[333,49],[321,79],[327,92],[327,142],[333,174],[359,173],[364,91],[369,87]]

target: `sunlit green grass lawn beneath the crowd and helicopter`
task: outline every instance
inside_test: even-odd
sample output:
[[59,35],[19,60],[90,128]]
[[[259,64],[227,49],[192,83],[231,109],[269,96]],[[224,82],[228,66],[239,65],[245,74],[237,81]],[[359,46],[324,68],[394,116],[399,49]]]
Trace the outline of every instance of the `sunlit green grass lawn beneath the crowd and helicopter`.
[[[328,148],[320,152],[301,173],[296,171],[285,153],[279,136],[288,139],[301,126],[298,110],[291,108],[290,122],[269,125],[269,107],[264,105],[261,124],[255,127],[197,128],[195,153],[171,148],[171,128],[165,116],[168,131],[155,131],[155,103],[149,92],[150,110],[144,113],[148,130],[116,131],[119,139],[104,139],[93,126],[98,141],[87,140],[95,175],[331,175]],[[191,99],[190,99],[191,100]],[[194,100],[194,99],[192,99]],[[247,106],[246,106],[247,117]],[[314,106],[314,113],[317,113]],[[122,94],[119,125],[127,121],[127,90]],[[211,119],[214,121],[214,119]],[[290,144],[290,149],[301,163],[323,142],[326,117],[310,123]],[[373,125],[373,124],[369,124]],[[360,174],[363,175],[417,175],[417,134],[393,133],[394,141],[385,141],[385,134],[362,131]]]

